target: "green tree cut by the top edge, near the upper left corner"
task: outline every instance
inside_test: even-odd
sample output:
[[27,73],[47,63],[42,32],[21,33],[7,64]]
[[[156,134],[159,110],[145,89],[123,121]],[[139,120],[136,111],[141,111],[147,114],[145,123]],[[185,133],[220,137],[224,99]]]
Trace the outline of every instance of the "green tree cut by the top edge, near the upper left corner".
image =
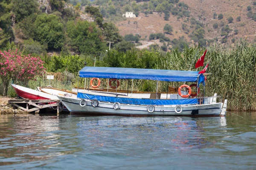
[[16,16],[16,21],[19,22],[38,11],[38,3],[36,0],[13,0],[12,10]]

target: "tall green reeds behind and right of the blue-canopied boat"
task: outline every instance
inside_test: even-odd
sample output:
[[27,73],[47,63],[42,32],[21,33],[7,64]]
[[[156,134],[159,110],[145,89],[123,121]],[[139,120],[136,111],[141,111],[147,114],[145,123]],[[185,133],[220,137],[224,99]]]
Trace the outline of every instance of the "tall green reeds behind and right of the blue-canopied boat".
[[[198,53],[198,50],[200,51]],[[159,69],[192,70],[205,49],[185,48],[183,52],[172,50],[157,63]],[[195,54],[198,54],[195,59]],[[200,54],[200,55],[199,55]],[[256,44],[244,42],[223,49],[220,45],[208,48],[205,65],[210,61],[205,95],[214,93],[228,99],[228,109],[235,111],[256,110]],[[191,67],[192,63],[192,67]],[[201,71],[203,67],[197,71]],[[177,83],[172,83],[178,86]]]

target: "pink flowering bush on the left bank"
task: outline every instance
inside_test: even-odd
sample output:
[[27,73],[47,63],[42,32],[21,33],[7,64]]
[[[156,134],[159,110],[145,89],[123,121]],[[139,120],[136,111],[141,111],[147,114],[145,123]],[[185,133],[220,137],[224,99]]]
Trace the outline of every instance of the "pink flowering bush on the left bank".
[[40,57],[23,55],[16,51],[0,51],[0,79],[3,82],[3,96],[6,96],[8,85],[12,80],[27,83],[34,80],[35,76],[45,72],[44,62]]

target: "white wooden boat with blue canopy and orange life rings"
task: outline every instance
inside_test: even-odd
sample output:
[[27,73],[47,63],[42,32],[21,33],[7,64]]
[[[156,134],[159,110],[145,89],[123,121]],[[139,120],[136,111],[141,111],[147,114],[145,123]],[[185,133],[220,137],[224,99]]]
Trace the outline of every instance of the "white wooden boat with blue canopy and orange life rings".
[[[109,79],[148,79],[169,82],[196,82],[204,85],[204,75],[198,71],[174,71],[139,68],[84,67],[79,77]],[[188,91],[185,90],[188,89]],[[182,90],[183,89],[183,90]],[[128,89],[129,90],[129,89]],[[129,96],[113,92],[83,91],[77,98],[58,96],[71,114],[79,115],[128,115],[128,116],[225,116],[227,100],[221,96],[187,98],[191,95],[188,85],[181,85],[177,97],[160,93]],[[176,95],[176,94],[175,94]],[[218,102],[217,102],[218,101]]]

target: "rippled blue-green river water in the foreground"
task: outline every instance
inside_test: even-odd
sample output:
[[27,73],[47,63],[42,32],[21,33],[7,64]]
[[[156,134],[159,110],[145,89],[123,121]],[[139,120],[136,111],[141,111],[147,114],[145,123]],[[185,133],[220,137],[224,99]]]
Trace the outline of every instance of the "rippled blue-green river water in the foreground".
[[0,116],[0,169],[256,169],[256,113]]

